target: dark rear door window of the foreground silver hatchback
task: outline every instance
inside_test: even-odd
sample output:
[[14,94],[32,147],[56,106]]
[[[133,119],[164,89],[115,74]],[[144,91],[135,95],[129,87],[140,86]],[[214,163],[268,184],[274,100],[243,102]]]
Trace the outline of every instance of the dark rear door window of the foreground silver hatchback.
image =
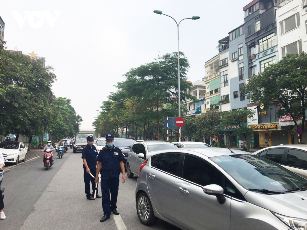
[[152,166],[167,173],[177,175],[179,158],[180,154],[174,154],[174,153],[161,154],[157,157]]

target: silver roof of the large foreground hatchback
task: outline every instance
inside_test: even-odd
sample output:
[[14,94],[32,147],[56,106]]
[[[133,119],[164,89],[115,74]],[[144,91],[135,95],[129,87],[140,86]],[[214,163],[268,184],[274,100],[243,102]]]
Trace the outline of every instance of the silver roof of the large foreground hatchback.
[[[233,151],[234,153],[231,153]],[[153,155],[157,155],[160,153],[188,153],[196,156],[207,156],[208,158],[214,157],[214,156],[223,156],[223,155],[253,155],[250,152],[231,149],[231,151],[228,148],[177,148],[177,149],[168,149],[168,150],[159,150],[155,151]]]

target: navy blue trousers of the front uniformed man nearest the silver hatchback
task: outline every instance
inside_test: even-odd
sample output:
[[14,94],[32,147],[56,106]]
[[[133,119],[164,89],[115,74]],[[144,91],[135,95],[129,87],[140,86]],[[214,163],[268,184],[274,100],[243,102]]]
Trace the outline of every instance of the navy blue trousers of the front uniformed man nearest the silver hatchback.
[[[103,178],[101,177],[101,193],[102,193],[102,209],[104,216],[110,216],[111,211],[117,208],[117,194],[119,186],[119,177],[117,178]],[[111,193],[111,199],[110,199]]]

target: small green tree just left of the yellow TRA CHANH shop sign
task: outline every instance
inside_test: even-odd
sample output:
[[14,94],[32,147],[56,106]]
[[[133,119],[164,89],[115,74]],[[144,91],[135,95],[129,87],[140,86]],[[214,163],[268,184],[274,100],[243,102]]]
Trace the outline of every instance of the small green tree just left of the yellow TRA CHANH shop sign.
[[254,111],[252,109],[235,109],[231,112],[224,112],[222,113],[222,121],[220,126],[237,126],[238,128],[232,132],[231,136],[243,135],[247,143],[247,135],[252,134],[254,131],[251,128],[243,126],[243,123],[246,123],[247,119],[253,117],[253,115]]

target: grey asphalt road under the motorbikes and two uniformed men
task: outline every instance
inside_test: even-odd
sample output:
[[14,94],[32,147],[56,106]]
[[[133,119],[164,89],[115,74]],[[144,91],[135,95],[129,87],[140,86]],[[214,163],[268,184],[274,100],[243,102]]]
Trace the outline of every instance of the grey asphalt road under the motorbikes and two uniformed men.
[[[54,156],[55,163],[46,171],[43,155],[30,151],[24,163],[4,169],[2,186],[5,187],[6,219],[0,220],[2,230],[178,230],[162,220],[153,226],[140,223],[136,214],[134,190],[137,177],[119,185],[117,210],[103,223],[101,199],[90,201],[84,193],[81,153],[72,149],[62,159]],[[101,189],[99,186],[99,194]]]

